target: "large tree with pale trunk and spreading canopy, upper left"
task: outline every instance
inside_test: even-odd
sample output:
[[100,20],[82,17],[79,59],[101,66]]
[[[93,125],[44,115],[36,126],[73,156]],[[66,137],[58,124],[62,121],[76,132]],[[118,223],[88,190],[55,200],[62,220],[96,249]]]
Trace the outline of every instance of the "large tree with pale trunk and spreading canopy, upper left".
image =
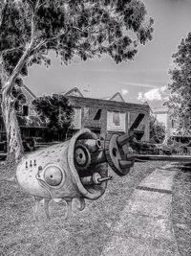
[[32,64],[49,66],[50,51],[65,64],[102,55],[119,63],[152,39],[153,19],[140,0],[1,0],[0,12],[2,111],[15,159],[23,153],[11,93],[16,78]]

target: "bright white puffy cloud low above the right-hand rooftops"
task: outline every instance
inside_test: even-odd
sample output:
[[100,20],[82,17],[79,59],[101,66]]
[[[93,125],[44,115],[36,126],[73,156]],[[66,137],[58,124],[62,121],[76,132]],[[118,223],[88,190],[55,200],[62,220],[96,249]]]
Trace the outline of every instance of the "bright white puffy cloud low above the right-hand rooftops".
[[153,88],[147,92],[138,92],[138,101],[161,101],[166,97],[166,86]]

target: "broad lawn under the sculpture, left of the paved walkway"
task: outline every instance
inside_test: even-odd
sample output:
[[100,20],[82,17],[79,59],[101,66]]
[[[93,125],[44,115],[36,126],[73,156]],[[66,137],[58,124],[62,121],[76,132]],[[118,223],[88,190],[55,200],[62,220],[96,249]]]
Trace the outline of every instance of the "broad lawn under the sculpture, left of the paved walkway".
[[134,189],[160,165],[137,163],[129,175],[114,175],[103,197],[87,200],[84,211],[78,212],[74,201],[68,221],[65,208],[55,202],[50,207],[51,221],[46,220],[42,206],[39,221],[33,221],[32,197],[9,180],[14,168],[0,165],[0,255],[100,255]]

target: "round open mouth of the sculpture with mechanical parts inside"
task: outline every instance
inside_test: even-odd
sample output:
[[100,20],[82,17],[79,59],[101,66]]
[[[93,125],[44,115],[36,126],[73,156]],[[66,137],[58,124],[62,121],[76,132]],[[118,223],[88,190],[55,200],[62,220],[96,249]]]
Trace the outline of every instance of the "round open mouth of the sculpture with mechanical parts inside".
[[101,197],[105,192],[107,179],[112,178],[108,177],[108,165],[104,156],[99,157],[101,153],[101,141],[90,129],[80,130],[70,142],[69,167],[79,192],[85,198]]

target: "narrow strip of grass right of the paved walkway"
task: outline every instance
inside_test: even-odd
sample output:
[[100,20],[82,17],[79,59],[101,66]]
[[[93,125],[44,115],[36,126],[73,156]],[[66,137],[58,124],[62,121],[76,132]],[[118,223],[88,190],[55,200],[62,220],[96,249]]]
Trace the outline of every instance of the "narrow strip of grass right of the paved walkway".
[[191,255],[191,169],[174,178],[172,219],[180,255]]

